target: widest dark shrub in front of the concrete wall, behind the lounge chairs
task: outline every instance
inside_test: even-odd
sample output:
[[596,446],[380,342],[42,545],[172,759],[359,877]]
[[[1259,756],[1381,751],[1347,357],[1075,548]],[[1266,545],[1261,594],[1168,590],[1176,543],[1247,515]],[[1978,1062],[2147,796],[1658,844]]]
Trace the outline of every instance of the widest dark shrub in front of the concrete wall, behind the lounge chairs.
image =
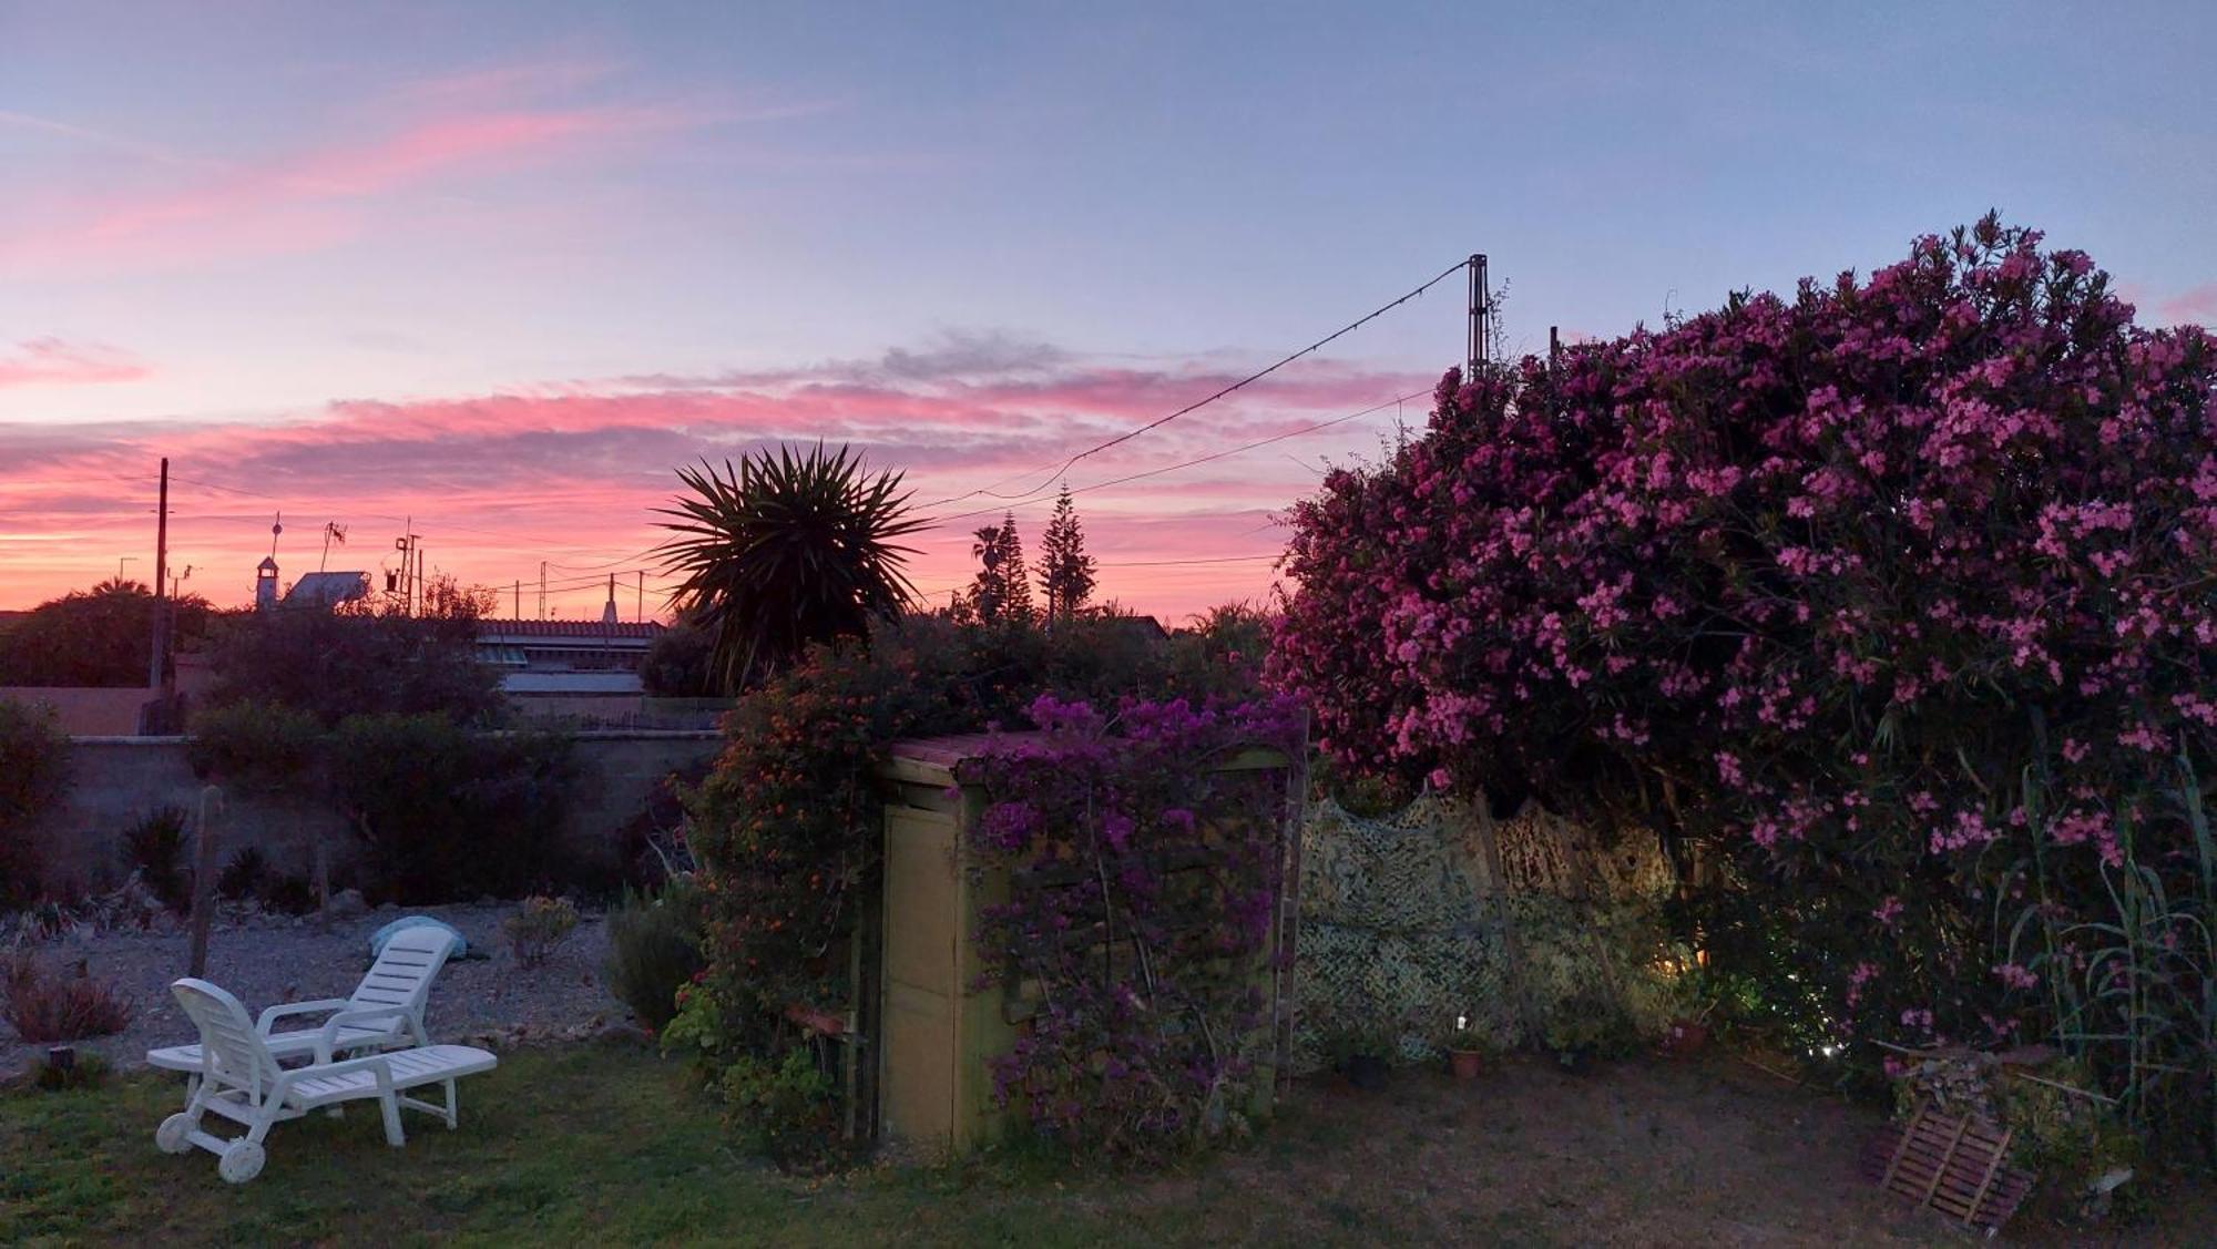
[[364,892],[426,904],[559,886],[576,766],[559,733],[470,733],[443,715],[353,715],[330,740],[337,808],[361,837]]

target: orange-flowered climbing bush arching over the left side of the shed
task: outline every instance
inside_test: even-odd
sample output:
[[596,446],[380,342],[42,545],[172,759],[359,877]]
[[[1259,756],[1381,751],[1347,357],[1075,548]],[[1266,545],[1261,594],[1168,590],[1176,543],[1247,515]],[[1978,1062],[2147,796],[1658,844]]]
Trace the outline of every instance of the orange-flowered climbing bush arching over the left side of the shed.
[[[665,1041],[696,1054],[712,1087],[745,1092],[734,1109],[769,1105],[756,1096],[760,1081],[783,1078],[789,1054],[809,1050],[787,1008],[836,1014],[851,994],[849,943],[878,897],[876,773],[891,744],[1018,726],[1040,693],[1102,706],[1175,698],[1184,691],[1173,656],[1173,644],[1113,616],[1053,633],[907,618],[880,624],[869,647],[814,647],[772,675],[725,720],[725,751],[694,799],[707,970]],[[1217,675],[1219,689],[1242,682],[1255,691],[1253,667]]]

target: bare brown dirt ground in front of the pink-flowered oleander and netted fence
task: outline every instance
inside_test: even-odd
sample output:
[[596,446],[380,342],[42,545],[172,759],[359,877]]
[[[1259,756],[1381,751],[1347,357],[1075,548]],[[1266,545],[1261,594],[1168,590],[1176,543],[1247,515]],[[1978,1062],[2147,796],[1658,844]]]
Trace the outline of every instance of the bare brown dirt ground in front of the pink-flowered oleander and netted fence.
[[[1729,1054],[1563,1072],[1505,1061],[1479,1081],[1401,1072],[1381,1092],[1297,1085],[1264,1143],[1162,1200],[1228,1183],[1306,1207],[1321,1242],[1448,1245],[1973,1245],[1856,1174],[1882,1123]],[[1281,1207],[1284,1209],[1284,1207]],[[2199,1218],[2108,1233],[2013,1222],[2037,1245],[2208,1245]],[[2190,1231],[2182,1231],[2188,1229]],[[1250,1229],[1213,1227],[1224,1240]]]

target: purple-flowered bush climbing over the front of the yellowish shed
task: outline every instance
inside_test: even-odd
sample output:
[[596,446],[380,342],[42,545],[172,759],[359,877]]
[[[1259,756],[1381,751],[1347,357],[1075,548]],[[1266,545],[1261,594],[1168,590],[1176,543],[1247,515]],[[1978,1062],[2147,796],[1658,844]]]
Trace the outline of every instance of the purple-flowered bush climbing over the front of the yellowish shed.
[[1268,1081],[1268,970],[1286,855],[1279,768],[1301,751],[1284,698],[1124,700],[1104,718],[1040,695],[1042,740],[1004,740],[960,780],[989,806],[973,861],[1009,897],[975,935],[995,981],[1038,1010],[993,1090],[1073,1149],[1164,1158],[1233,1132]]

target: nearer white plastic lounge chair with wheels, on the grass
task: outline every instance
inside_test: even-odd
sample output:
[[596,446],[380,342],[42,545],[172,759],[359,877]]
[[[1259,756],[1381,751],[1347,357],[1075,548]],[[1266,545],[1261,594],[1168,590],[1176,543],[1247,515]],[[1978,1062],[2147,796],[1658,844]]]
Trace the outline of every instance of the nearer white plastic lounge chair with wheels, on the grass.
[[[195,1145],[215,1154],[215,1174],[233,1185],[262,1174],[266,1160],[262,1140],[270,1127],[315,1107],[377,1098],[386,1116],[386,1145],[408,1143],[408,1134],[401,1132],[403,1105],[437,1114],[452,1129],[459,1121],[454,1081],[490,1072],[499,1061],[468,1045],[423,1045],[337,1063],[317,1059],[308,1067],[288,1072],[277,1065],[239,999],[195,979],[175,981],[168,992],[177,994],[177,1005],[200,1025],[202,1061],[193,1101],[162,1121],[153,1143],[164,1154],[184,1154]],[[446,1085],[446,1105],[401,1096],[419,1085]],[[200,1129],[202,1114],[217,1114],[246,1127],[246,1136],[231,1140],[211,1136]]]

